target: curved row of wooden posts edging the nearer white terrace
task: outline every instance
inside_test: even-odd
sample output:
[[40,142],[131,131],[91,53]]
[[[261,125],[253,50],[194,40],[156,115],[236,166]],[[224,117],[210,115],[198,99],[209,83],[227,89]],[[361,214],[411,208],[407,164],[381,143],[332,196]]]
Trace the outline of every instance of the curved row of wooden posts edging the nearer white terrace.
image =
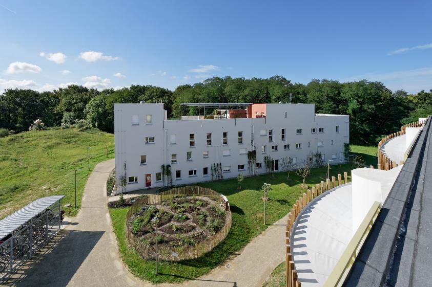
[[[371,166],[373,168],[373,166]],[[301,210],[305,208],[315,197],[319,196],[322,193],[325,193],[336,186],[341,184],[345,184],[348,182],[348,174],[347,172],[342,175],[338,174],[338,178],[332,176],[332,179],[326,179],[326,181],[321,181],[321,184],[316,184],[311,189],[307,189],[306,193],[303,193],[296,203],[293,205],[293,208],[288,213],[288,221],[286,223],[285,230],[285,264],[286,264],[286,287],[301,287],[301,282],[297,277],[297,270],[294,265],[294,258],[291,253],[291,244],[290,237],[291,232],[296,221],[296,218],[299,216]]]

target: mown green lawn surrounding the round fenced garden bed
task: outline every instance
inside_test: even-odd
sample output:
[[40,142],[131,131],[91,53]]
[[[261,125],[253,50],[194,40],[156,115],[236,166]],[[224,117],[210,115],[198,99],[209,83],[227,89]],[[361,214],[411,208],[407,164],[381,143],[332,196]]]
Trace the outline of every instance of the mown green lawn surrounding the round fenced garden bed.
[[[331,167],[330,175],[337,176],[344,171],[351,175],[351,164],[336,165]],[[310,186],[324,180],[327,172],[326,167],[315,168],[306,179]],[[301,179],[294,172],[290,174],[292,180],[286,180],[286,173],[275,173],[271,175],[260,175],[253,178],[245,178],[241,184],[242,189],[237,190],[236,179],[217,182],[200,183],[201,186],[212,188],[224,195],[230,201],[233,216],[233,225],[228,234],[218,246],[204,256],[185,260],[177,263],[161,262],[159,265],[159,276],[155,276],[155,262],[144,261],[139,255],[132,251],[125,239],[125,215],[128,208],[110,209],[114,232],[117,236],[120,254],[131,270],[131,272],[142,279],[152,282],[181,282],[196,278],[210,272],[213,268],[222,264],[231,254],[241,250],[255,236],[260,234],[269,225],[263,225],[264,204],[261,200],[263,183],[272,184],[272,190],[268,196],[270,201],[266,207],[266,218],[268,223],[274,223],[291,209],[298,200],[304,189],[300,188]],[[351,180],[351,177],[349,177]]]

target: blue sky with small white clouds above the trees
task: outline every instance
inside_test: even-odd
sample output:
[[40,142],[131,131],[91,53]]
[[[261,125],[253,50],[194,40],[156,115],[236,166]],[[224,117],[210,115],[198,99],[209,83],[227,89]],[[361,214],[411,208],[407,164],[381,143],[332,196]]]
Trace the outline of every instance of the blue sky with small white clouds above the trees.
[[432,89],[431,1],[0,0],[0,89],[281,75]]

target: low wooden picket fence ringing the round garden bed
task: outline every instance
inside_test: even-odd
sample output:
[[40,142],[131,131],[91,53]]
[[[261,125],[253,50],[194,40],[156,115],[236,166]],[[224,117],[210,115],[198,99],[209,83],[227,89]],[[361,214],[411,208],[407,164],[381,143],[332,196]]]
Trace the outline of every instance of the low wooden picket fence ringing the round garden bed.
[[[200,186],[181,186],[175,187],[167,191],[162,191],[159,194],[147,194],[140,200],[134,202],[126,214],[126,220],[129,220],[133,214],[139,211],[145,205],[156,205],[163,201],[170,200],[176,196],[206,196],[213,200],[218,201],[220,199],[220,193],[210,188],[204,188]],[[181,246],[181,247],[158,247],[158,258],[166,261],[181,261],[198,258],[205,253],[211,251],[217,246],[231,229],[232,216],[231,210],[228,209],[227,217],[225,220],[224,227],[216,232],[213,236],[205,239],[204,241],[198,242],[196,245]],[[136,252],[145,260],[154,259],[156,257],[156,246],[143,244],[133,233],[129,230],[126,224],[126,238],[129,242],[129,246],[134,248]]]

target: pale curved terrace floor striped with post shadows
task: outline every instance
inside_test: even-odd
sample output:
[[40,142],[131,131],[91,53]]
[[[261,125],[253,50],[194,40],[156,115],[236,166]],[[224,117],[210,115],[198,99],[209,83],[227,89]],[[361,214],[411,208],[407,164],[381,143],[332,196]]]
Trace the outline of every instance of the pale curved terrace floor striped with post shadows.
[[293,228],[291,253],[302,286],[322,286],[352,238],[352,185],[318,197]]

